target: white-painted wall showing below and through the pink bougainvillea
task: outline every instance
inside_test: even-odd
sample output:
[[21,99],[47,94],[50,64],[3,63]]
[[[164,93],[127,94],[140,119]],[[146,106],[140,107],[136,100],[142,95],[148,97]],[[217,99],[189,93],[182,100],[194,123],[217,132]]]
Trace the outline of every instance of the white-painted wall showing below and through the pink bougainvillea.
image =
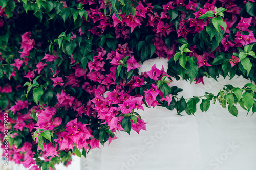
[[[141,71],[149,71],[156,63],[161,69],[166,59],[148,60]],[[140,71],[140,72],[141,72]],[[215,95],[223,85],[243,87],[250,81],[220,78],[219,82],[205,78],[202,84],[175,81],[184,91],[184,97],[200,96],[207,92]],[[256,169],[256,115],[238,106],[238,117],[231,115],[218,102],[211,104],[207,113],[197,111],[195,116],[178,116],[166,108],[146,108],[138,113],[147,122],[147,131],[117,133],[113,140],[101,149],[93,149],[82,161],[82,169],[172,169],[172,170],[255,170]],[[199,109],[199,106],[197,108]]]

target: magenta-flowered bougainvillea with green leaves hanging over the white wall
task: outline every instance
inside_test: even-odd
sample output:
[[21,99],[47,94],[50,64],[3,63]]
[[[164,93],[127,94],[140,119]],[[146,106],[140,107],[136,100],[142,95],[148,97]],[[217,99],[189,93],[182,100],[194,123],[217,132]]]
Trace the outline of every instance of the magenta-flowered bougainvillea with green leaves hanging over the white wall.
[[[172,80],[242,76],[255,82],[254,0],[0,1],[0,138],[30,169],[71,163],[118,131],[139,133],[136,110],[194,115],[218,101],[256,112],[253,83],[190,99]],[[139,74],[144,61],[167,58]],[[7,116],[8,114],[8,116]],[[8,118],[6,118],[8,117]],[[8,125],[8,126],[5,126]],[[8,128],[7,128],[8,127]],[[2,148],[5,147],[5,143]]]

